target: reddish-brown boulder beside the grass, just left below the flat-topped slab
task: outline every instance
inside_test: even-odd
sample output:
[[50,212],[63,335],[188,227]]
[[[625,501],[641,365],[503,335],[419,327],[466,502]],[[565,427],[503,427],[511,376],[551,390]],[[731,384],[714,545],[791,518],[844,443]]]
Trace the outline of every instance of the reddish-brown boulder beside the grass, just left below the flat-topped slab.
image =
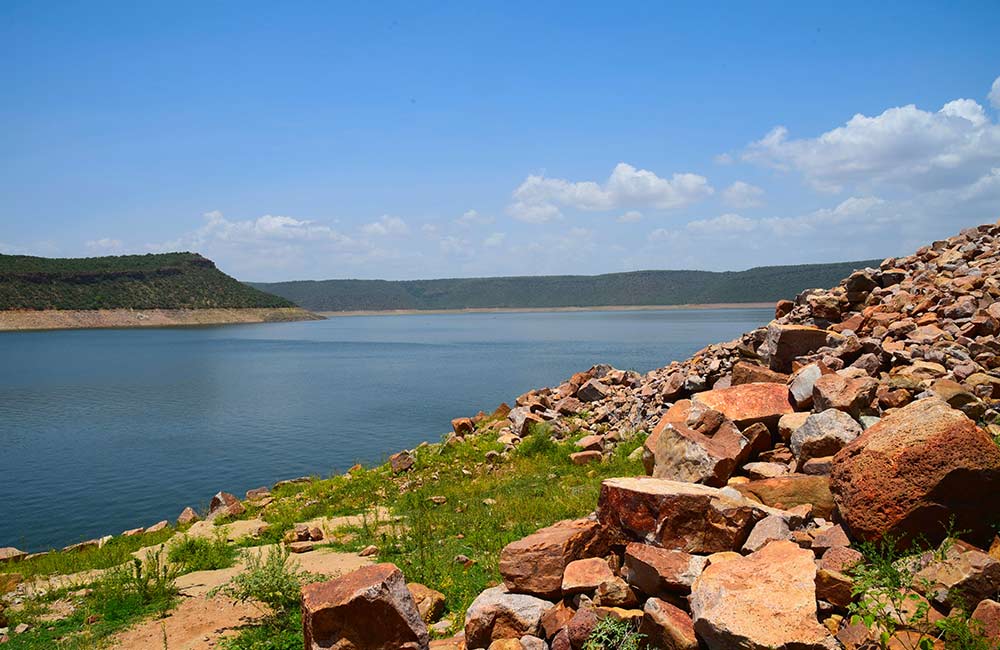
[[606,551],[607,543],[596,521],[560,521],[505,546],[500,552],[500,575],[512,592],[557,598],[566,565]]

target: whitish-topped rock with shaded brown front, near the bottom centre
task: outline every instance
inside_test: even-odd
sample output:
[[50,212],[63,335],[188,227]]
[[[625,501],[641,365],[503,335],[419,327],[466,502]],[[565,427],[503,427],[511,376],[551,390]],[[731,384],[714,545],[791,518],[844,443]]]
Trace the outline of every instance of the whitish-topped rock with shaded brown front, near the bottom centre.
[[541,633],[542,616],[554,605],[527,594],[493,587],[479,594],[465,612],[465,643],[488,648],[497,639],[520,639]]

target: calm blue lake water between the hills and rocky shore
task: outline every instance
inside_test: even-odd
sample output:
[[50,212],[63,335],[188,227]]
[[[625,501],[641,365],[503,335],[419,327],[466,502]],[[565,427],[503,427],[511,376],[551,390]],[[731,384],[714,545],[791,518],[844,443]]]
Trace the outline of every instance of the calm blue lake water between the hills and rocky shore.
[[358,316],[0,333],[0,546],[173,520],[373,463],[595,363],[647,371],[769,309]]

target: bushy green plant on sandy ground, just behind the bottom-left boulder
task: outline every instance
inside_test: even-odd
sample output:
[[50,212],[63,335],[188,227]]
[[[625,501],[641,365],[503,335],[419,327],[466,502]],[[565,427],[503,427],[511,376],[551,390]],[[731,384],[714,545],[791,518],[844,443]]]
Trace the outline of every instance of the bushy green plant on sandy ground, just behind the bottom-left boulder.
[[246,568],[228,583],[212,590],[233,600],[263,605],[268,626],[282,629],[296,627],[299,621],[299,594],[302,585],[316,577],[289,561],[288,549],[272,546],[266,556],[261,551],[245,551]]

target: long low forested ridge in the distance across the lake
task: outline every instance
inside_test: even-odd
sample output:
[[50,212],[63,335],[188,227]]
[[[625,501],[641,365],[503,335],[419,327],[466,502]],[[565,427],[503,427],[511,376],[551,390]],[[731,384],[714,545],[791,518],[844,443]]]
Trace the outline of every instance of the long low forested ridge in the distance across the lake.
[[770,302],[837,284],[881,260],[762,266],[747,271],[634,271],[445,280],[253,283],[311,311],[545,308]]

